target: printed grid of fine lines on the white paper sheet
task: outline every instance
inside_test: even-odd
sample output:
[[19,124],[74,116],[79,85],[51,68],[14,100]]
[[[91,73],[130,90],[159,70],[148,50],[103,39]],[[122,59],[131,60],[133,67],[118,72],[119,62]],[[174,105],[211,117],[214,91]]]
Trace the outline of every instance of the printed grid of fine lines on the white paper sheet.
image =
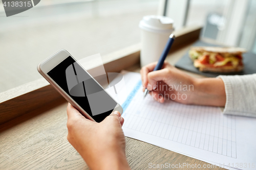
[[236,158],[236,119],[219,108],[160,104],[138,90],[124,111],[124,127]]

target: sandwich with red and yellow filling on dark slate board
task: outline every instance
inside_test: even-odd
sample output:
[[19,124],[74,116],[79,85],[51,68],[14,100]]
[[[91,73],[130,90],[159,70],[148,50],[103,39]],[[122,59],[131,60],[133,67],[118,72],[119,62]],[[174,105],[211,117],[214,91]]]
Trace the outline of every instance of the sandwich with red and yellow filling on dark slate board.
[[189,57],[194,66],[203,72],[240,72],[244,69],[243,56],[246,50],[239,47],[191,47]]

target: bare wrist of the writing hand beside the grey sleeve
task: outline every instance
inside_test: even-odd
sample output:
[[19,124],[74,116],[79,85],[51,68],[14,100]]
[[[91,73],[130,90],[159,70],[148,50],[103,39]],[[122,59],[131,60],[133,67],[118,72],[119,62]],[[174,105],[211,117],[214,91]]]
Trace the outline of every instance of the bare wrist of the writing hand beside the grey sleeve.
[[226,92],[222,79],[195,79],[194,87],[195,91],[193,91],[193,96],[191,96],[191,104],[225,106]]

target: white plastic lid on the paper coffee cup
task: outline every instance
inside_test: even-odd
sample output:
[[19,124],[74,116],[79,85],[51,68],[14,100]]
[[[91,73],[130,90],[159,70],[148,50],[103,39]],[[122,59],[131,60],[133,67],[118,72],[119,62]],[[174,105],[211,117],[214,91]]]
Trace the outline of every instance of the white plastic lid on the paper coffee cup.
[[173,31],[174,20],[166,16],[147,15],[139,23],[139,28],[150,32]]

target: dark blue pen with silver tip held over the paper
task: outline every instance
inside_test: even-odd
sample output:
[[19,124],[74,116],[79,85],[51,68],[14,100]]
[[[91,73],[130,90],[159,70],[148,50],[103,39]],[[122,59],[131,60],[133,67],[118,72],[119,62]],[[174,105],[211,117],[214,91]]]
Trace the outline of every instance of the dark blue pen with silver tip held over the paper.
[[[159,70],[159,69],[162,68],[163,62],[164,62],[167,54],[169,53],[170,47],[172,47],[174,40],[175,40],[174,34],[170,34],[169,39],[168,39],[168,41],[167,41],[167,43],[166,43],[166,45],[163,49],[163,52],[162,52],[162,54],[161,54],[161,56],[158,60],[158,63],[157,63],[157,65],[156,65],[156,67],[154,68],[153,71],[156,71],[156,70]],[[145,91],[144,91],[144,98],[145,98],[147,93],[148,93],[148,90],[146,88]]]

